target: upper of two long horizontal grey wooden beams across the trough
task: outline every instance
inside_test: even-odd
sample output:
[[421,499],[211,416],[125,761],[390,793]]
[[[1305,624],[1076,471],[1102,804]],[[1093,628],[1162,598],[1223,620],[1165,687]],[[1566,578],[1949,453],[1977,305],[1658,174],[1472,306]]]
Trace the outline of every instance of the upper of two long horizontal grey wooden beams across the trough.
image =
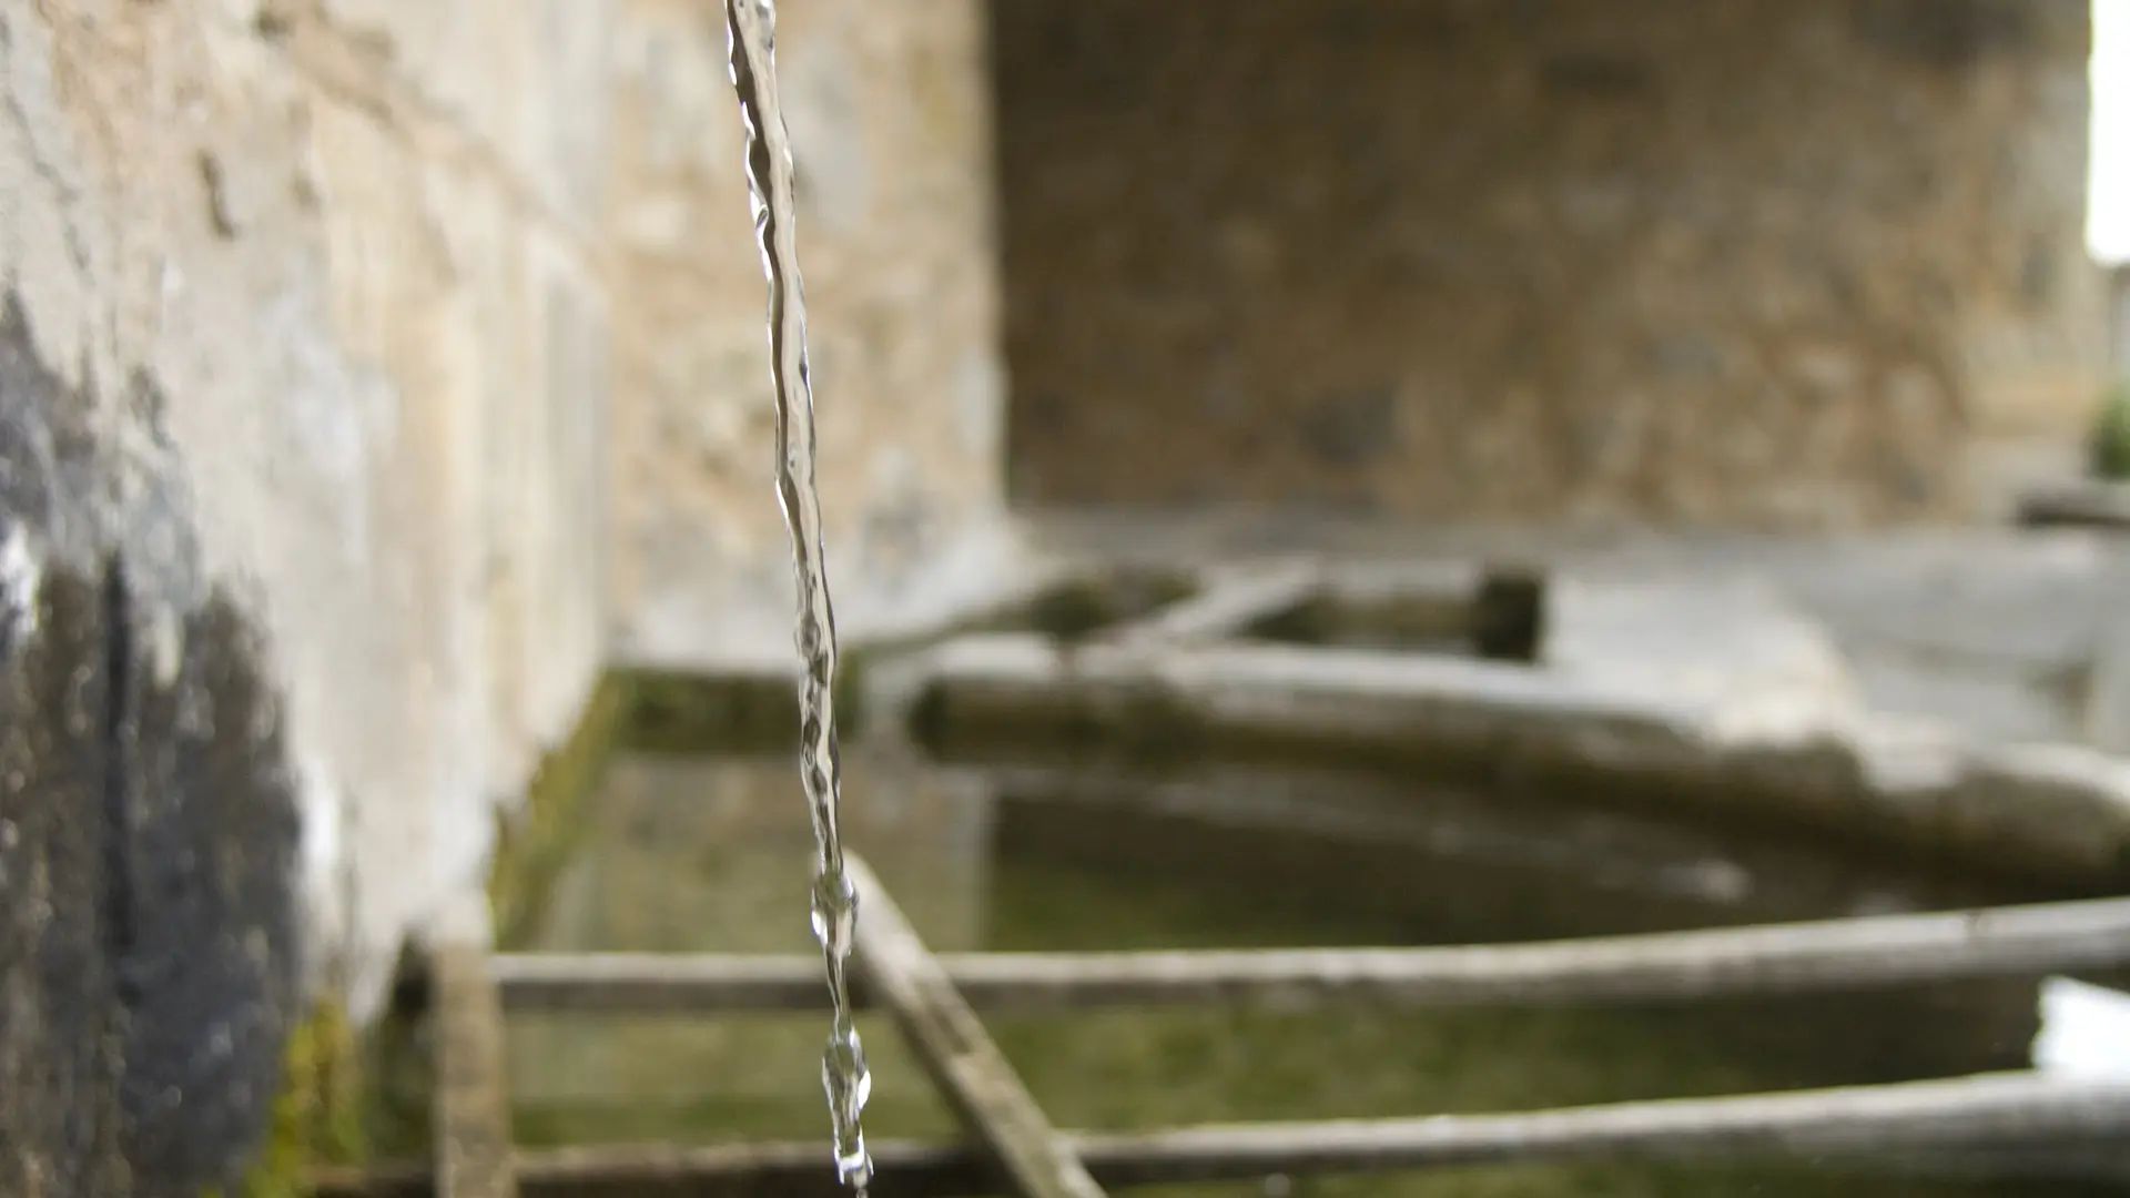
[[[2115,966],[2130,966],[2130,900],[1453,949],[937,957],[941,985],[986,1010],[1685,1002]],[[807,957],[541,953],[496,957],[492,968],[511,1010],[645,1015],[824,1002],[820,966]],[[861,987],[858,1000],[875,993]]]

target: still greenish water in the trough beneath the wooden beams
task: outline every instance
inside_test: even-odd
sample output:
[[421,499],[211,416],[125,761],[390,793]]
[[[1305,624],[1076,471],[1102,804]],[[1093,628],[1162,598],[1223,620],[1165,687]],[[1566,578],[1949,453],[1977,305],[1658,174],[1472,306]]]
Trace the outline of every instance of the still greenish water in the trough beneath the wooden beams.
[[[1455,944],[1989,902],[1789,846],[1574,808],[1265,772],[948,772],[854,755],[846,821],[937,951]],[[814,949],[814,838],[784,755],[620,763],[528,949]],[[1517,1111],[2019,1068],[2032,985],[1580,1010],[988,1017],[1065,1128]],[[526,1145],[820,1138],[820,1017],[513,1019]],[[878,1136],[952,1136],[863,1017]],[[826,1164],[824,1164],[826,1168]],[[1161,1194],[2064,1196],[1808,1170],[1534,1166]]]

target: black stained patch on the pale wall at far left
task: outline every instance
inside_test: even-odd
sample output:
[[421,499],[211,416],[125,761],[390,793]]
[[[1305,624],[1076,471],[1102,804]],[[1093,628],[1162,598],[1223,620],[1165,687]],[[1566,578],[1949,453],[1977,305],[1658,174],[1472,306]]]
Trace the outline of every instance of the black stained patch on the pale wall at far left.
[[262,637],[200,580],[153,384],[130,401],[98,411],[4,298],[4,1194],[232,1183],[298,1002],[298,819]]

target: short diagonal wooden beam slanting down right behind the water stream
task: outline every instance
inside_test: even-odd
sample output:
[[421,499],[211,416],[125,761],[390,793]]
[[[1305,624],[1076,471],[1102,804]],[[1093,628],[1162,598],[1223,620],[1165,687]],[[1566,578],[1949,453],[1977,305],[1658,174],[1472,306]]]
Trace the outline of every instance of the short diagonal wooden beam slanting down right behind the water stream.
[[1014,1194],[1101,1198],[873,870],[858,857],[846,857],[843,868],[858,887],[858,974]]

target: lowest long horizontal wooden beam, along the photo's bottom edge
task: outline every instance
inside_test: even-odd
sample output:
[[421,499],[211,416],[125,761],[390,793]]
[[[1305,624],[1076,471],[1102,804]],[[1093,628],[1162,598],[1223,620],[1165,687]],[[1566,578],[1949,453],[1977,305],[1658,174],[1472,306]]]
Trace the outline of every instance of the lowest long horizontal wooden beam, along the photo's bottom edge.
[[[1397,1172],[1561,1160],[1845,1160],[1989,1172],[1992,1162],[2130,1175],[2130,1085],[2000,1074],[1738,1098],[1619,1102],[1517,1115],[1242,1123],[1076,1134],[1108,1185],[1267,1175]],[[2000,1155],[2002,1153],[2002,1155]],[[835,1198],[816,1145],[609,1147],[526,1155],[526,1198]],[[897,1198],[986,1192],[982,1157],[884,1143],[880,1189]],[[417,1170],[326,1175],[317,1198],[428,1198]]]

